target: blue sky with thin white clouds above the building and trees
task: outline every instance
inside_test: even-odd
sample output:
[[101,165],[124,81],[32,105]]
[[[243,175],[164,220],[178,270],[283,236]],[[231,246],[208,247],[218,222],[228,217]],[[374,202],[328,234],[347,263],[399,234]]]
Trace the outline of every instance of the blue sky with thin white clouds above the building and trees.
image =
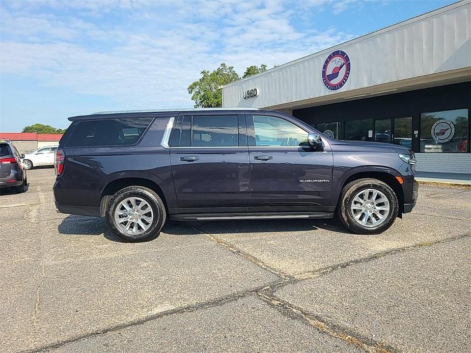
[[192,107],[188,85],[221,62],[271,68],[450,3],[1,0],[0,131]]

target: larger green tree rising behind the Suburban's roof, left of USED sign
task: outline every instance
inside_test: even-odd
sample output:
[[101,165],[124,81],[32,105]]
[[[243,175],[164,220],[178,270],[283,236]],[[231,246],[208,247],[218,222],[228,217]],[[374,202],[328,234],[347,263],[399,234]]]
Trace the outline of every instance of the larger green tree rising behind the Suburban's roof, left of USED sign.
[[214,108],[223,106],[223,94],[220,86],[240,79],[233,66],[226,63],[209,72],[201,71],[201,78],[188,86],[188,93],[195,101],[195,108]]

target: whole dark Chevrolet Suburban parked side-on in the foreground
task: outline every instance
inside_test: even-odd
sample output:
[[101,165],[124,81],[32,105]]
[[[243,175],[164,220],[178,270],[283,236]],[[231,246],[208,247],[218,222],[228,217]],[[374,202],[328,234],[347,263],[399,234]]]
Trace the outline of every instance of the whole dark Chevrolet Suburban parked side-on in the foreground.
[[417,200],[399,145],[338,141],[257,109],[103,112],[69,118],[56,154],[58,212],[106,217],[147,241],[165,218],[332,218],[376,234]]

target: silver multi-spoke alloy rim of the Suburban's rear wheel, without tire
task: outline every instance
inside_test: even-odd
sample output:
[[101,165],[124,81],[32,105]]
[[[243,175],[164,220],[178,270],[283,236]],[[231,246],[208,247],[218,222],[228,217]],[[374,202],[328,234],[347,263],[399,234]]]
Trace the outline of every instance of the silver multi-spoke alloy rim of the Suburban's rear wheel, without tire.
[[122,200],[115,210],[116,226],[126,235],[137,236],[144,233],[153,221],[154,213],[149,202],[140,197]]

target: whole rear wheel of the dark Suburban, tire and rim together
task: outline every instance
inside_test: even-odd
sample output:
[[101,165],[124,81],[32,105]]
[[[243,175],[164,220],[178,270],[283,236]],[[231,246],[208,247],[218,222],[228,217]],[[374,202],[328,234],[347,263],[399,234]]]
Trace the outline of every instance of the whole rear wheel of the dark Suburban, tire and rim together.
[[156,238],[165,222],[165,207],[151,189],[130,186],[118,191],[106,206],[106,223],[125,242]]

